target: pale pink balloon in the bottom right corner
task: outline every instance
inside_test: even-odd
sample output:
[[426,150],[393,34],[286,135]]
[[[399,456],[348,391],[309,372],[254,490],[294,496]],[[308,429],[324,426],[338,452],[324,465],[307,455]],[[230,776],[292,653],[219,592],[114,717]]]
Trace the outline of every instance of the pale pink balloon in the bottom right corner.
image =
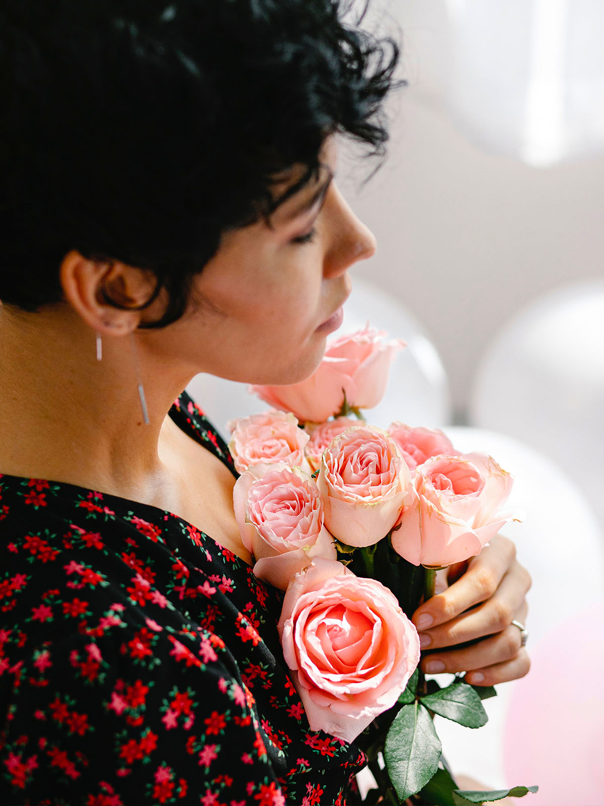
[[511,785],[539,785],[527,804],[604,803],[602,623],[604,600],[556,625],[531,648],[529,674],[514,683],[503,760]]

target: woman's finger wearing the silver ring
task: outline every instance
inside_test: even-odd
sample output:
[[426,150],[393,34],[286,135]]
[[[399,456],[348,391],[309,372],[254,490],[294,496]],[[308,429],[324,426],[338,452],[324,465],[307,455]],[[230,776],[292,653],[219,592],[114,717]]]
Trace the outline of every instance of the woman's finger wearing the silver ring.
[[[523,605],[515,614],[515,620],[523,623],[526,613],[527,607]],[[470,646],[425,654],[422,656],[421,667],[428,675],[482,670],[499,663],[507,663],[515,658],[521,648],[522,632],[516,625],[510,624],[496,635],[483,638],[482,641]]]

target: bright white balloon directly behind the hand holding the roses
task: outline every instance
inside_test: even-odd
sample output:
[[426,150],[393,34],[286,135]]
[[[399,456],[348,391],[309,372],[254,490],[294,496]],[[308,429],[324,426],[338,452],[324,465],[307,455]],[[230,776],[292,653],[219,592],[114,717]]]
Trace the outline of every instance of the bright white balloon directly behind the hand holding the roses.
[[[558,625],[602,600],[604,543],[598,521],[576,477],[523,442],[461,426],[445,432],[457,450],[488,453],[515,477],[510,504],[524,511],[523,522],[508,523],[502,533],[515,542],[520,563],[532,575],[526,619],[531,654]],[[556,675],[564,679],[564,663],[548,673],[555,688]],[[480,730],[436,717],[436,731],[453,771],[493,788],[540,783],[509,780],[503,768],[508,709],[517,685],[518,681],[499,685],[498,696],[483,702],[489,721]]]

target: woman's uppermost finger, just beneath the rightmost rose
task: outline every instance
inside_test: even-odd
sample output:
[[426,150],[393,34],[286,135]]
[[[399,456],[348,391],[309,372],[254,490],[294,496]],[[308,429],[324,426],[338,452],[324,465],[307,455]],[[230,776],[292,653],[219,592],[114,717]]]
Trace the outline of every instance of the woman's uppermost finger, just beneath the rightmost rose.
[[500,534],[495,535],[478,557],[471,560],[468,570],[457,582],[416,610],[412,621],[417,629],[432,629],[490,599],[514,559],[514,543]]

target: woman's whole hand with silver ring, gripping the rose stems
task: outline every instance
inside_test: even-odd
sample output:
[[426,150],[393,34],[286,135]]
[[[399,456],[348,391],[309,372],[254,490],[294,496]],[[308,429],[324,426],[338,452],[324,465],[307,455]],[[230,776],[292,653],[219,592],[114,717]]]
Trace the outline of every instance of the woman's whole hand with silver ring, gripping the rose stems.
[[[526,675],[531,663],[521,646],[522,634],[511,622],[524,624],[531,577],[516,560],[514,543],[498,534],[478,557],[443,573],[449,588],[421,605],[412,618],[420,634],[424,672],[465,671],[467,682],[478,686]],[[436,585],[438,590],[438,581]]]

